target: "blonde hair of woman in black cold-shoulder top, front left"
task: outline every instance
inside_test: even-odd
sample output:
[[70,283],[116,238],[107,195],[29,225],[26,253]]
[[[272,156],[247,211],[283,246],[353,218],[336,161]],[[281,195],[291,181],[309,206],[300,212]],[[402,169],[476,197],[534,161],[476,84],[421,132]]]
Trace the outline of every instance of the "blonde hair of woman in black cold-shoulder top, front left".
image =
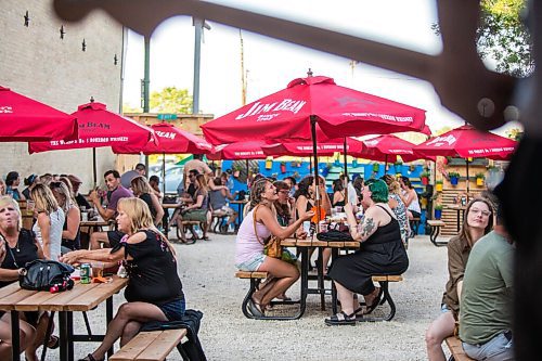
[[117,208],[121,209],[130,219],[130,230],[129,234],[133,234],[140,230],[151,230],[158,234],[160,238],[167,243],[169,249],[176,255],[175,248],[169,243],[168,238],[158,231],[158,229],[154,225],[154,219],[151,215],[151,209],[145,202],[140,198],[130,197],[130,198],[120,198],[118,199]]

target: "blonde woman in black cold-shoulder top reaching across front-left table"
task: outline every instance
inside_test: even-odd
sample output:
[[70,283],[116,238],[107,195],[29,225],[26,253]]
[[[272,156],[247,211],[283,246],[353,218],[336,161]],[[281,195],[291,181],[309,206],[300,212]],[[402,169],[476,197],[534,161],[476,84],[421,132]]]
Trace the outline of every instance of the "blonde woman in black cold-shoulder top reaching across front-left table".
[[153,223],[147,205],[139,198],[121,198],[117,207],[118,230],[126,233],[113,249],[74,250],[66,263],[124,261],[129,274],[125,297],[100,347],[85,361],[103,360],[120,337],[120,346],[132,339],[145,322],[178,321],[184,314],[182,284],[175,252]]

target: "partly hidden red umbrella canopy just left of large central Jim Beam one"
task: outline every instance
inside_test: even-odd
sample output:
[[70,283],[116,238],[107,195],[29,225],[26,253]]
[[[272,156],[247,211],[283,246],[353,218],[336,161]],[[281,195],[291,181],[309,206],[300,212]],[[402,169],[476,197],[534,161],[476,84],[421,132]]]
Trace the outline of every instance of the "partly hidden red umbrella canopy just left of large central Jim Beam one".
[[158,144],[149,142],[141,149],[134,146],[132,143],[122,143],[113,146],[113,152],[116,154],[206,154],[214,150],[212,145],[205,139],[167,123],[154,124],[151,126],[151,129],[154,130],[154,134],[159,140]]

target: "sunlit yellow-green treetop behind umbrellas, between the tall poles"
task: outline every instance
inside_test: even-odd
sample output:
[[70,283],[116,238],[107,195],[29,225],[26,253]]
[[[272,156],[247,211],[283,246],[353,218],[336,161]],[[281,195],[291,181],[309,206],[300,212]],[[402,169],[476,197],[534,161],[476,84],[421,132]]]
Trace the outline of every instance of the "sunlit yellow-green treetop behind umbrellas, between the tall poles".
[[192,96],[188,89],[167,87],[159,92],[153,91],[149,101],[152,113],[192,113]]

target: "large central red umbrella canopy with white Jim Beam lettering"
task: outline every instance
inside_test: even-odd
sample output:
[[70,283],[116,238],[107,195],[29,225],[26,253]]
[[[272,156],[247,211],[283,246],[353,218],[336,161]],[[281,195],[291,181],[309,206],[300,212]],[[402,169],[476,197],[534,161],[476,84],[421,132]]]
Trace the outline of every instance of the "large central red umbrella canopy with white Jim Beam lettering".
[[299,78],[286,89],[202,126],[212,144],[311,139],[311,119],[328,138],[420,131],[425,111],[337,86],[324,76]]

